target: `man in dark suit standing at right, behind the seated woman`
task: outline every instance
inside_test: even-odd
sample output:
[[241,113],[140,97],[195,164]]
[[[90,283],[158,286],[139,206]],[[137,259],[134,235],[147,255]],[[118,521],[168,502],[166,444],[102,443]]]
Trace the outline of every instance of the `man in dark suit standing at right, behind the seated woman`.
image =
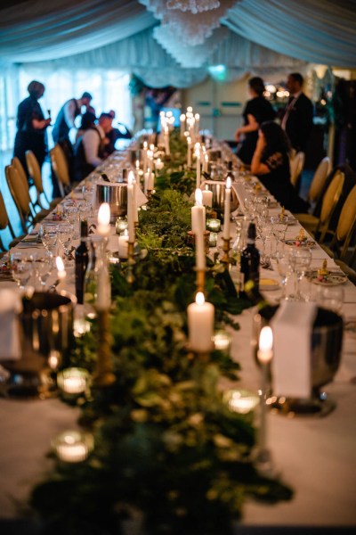
[[296,152],[305,152],[308,137],[312,132],[312,101],[303,93],[303,76],[299,72],[289,74],[287,78],[289,102],[281,121],[292,147]]

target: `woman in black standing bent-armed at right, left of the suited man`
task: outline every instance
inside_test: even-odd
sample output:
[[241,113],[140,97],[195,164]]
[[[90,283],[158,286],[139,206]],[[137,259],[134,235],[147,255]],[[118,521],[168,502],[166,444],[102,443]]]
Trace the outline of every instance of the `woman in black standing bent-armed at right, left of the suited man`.
[[241,135],[244,135],[242,144],[238,148],[239,159],[246,164],[250,164],[255,152],[255,146],[258,139],[258,128],[266,120],[273,120],[276,112],[263,96],[264,84],[262,78],[251,78],[248,80],[248,90],[252,99],[249,100],[243,111],[244,126],[239,128],[235,133],[236,141],[241,141]]

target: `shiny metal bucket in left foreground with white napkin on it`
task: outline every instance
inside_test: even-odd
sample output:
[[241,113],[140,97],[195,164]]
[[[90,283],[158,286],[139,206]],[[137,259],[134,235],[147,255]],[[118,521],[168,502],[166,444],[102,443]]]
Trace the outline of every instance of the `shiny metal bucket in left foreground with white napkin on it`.
[[[46,398],[55,391],[48,358],[65,363],[73,345],[73,313],[77,298],[68,292],[35,292],[23,301],[19,314],[22,356],[4,362],[10,372],[4,394],[17,398]],[[54,366],[53,366],[54,367]]]

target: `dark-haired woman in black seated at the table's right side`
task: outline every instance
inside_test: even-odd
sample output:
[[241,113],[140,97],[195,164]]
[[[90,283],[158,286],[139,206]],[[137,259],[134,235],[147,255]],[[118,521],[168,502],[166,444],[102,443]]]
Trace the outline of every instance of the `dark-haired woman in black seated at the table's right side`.
[[264,122],[259,130],[251,172],[259,177],[281,206],[303,213],[308,211],[309,204],[298,196],[290,182],[290,151],[285,131],[274,121]]

